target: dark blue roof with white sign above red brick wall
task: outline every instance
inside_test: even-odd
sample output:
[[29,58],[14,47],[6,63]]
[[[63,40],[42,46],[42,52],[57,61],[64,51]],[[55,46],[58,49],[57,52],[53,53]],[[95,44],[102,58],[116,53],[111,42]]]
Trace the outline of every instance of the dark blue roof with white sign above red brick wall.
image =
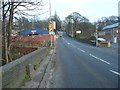
[[34,28],[34,29],[28,29],[28,30],[23,30],[23,31],[20,31],[18,32],[19,35],[23,35],[23,36],[26,36],[26,35],[30,35],[30,34],[48,34],[48,30],[42,30],[42,29],[39,29],[39,28]]

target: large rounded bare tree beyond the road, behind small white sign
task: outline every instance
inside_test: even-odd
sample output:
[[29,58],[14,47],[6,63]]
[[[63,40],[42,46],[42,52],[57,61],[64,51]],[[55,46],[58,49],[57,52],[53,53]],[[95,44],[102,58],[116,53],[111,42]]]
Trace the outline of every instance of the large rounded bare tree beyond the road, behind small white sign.
[[[71,23],[71,19],[74,21],[73,24]],[[77,37],[76,31],[82,32],[77,38],[88,39],[91,37],[91,34],[93,34],[95,31],[95,26],[89,22],[89,19],[87,19],[86,17],[82,16],[77,12],[73,12],[72,14],[68,15],[68,17],[66,17],[65,22],[66,22],[66,32],[68,35],[71,34],[72,30],[74,37]]]

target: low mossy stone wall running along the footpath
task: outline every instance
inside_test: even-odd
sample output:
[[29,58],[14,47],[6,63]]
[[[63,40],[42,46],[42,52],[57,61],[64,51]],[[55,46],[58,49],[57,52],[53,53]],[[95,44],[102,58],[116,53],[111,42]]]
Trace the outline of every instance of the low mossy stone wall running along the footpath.
[[0,86],[2,84],[2,87],[0,89],[18,88],[25,79],[26,66],[29,64],[33,66],[34,64],[40,63],[47,55],[47,52],[48,48],[41,48],[0,67],[0,73],[2,73],[2,82],[0,82]]

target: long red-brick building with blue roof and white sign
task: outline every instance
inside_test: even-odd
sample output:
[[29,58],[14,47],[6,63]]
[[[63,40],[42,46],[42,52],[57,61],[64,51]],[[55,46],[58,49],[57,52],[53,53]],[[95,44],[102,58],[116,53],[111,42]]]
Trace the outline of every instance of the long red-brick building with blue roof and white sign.
[[12,41],[26,43],[26,45],[40,45],[46,42],[51,42],[54,45],[55,37],[50,35],[48,30],[42,30],[39,28],[23,30],[18,32],[18,36],[12,38]]

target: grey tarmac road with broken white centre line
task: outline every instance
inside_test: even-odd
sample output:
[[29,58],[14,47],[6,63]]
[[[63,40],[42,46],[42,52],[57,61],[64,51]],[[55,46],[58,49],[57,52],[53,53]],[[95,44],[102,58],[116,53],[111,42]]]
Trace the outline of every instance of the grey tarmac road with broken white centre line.
[[80,43],[65,33],[56,44],[56,88],[117,88],[116,50]]

